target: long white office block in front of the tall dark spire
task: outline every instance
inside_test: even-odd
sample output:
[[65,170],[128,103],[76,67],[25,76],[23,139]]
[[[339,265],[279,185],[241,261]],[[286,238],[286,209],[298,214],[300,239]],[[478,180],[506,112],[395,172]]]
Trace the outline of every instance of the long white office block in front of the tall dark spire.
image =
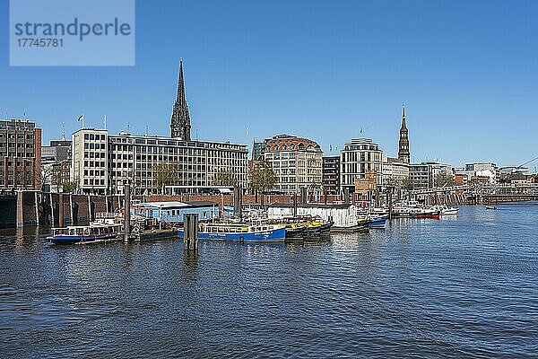
[[[123,193],[130,180],[134,193],[142,195],[161,193],[162,185],[211,187],[218,173],[230,171],[246,188],[247,155],[245,144],[112,136],[104,129],[83,128],[73,135],[73,180],[83,193]],[[161,171],[169,172],[166,183],[158,180]]]

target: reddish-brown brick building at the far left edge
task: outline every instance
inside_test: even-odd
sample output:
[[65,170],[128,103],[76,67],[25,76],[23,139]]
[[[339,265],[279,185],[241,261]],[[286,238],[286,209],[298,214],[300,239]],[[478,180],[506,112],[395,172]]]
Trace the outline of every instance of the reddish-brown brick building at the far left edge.
[[41,189],[41,128],[22,118],[0,120],[0,188]]

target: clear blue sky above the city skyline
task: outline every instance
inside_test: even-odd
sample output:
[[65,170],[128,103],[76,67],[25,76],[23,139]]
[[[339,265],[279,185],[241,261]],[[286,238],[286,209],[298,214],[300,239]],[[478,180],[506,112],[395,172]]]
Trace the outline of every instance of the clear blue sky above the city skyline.
[[0,4],[0,117],[26,111],[44,143],[81,113],[168,136],[183,57],[199,139],[288,133],[329,153],[362,128],[395,156],[405,103],[414,162],[538,156],[536,1],[139,0],[133,67],[10,67]]

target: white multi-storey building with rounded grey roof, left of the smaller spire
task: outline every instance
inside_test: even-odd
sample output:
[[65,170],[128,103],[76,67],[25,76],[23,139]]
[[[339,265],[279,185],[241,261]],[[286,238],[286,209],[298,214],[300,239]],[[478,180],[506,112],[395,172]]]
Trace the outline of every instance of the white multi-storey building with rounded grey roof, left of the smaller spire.
[[377,174],[377,185],[382,184],[383,151],[369,138],[351,139],[340,153],[340,186],[343,191],[354,191],[355,181],[364,179],[366,173]]

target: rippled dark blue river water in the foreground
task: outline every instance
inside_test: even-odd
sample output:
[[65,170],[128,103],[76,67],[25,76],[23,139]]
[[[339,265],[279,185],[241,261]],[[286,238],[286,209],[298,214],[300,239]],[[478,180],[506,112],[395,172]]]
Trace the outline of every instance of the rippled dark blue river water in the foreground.
[[538,206],[303,245],[0,232],[0,357],[538,355]]

